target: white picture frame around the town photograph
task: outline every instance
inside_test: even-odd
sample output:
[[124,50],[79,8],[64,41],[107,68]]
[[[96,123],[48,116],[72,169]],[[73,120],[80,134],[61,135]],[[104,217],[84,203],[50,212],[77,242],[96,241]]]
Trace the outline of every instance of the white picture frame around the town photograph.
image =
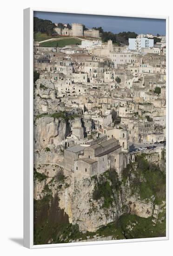
[[[169,208],[168,208],[168,148],[169,148],[169,131],[168,118],[166,118],[166,236],[157,238],[142,238],[128,240],[112,240],[97,242],[79,242],[79,243],[60,243],[60,244],[43,244],[33,245],[33,12],[58,12],[69,13],[66,10],[27,8],[24,10],[24,246],[30,249],[51,248],[63,246],[81,246],[93,244],[111,244],[111,243],[132,243],[146,241],[160,241],[169,239]],[[74,13],[74,12],[73,12]],[[93,15],[108,15],[136,18],[154,18],[166,20],[166,117],[169,115],[168,110],[168,93],[169,93],[169,74],[168,74],[168,16],[140,16],[136,14],[119,14],[119,13],[84,13]],[[77,14],[76,13],[76,14]]]

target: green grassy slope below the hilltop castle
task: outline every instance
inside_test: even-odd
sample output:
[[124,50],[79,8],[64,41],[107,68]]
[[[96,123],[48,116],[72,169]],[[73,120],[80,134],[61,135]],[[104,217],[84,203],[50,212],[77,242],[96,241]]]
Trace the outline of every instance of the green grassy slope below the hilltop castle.
[[56,47],[58,43],[58,47],[65,47],[66,45],[75,45],[79,44],[81,45],[81,40],[77,38],[64,38],[61,40],[53,40],[53,41],[47,41],[40,43],[40,46],[43,47]]

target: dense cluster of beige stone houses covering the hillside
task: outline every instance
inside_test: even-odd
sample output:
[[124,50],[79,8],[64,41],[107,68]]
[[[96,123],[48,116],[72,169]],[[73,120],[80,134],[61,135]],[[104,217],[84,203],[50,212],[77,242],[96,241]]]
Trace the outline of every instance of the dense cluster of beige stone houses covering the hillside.
[[75,115],[62,144],[64,167],[79,178],[109,168],[120,174],[129,143],[166,138],[165,37],[154,45],[145,36],[129,39],[128,46],[94,39],[56,48],[34,45],[34,71],[53,83],[57,111]]

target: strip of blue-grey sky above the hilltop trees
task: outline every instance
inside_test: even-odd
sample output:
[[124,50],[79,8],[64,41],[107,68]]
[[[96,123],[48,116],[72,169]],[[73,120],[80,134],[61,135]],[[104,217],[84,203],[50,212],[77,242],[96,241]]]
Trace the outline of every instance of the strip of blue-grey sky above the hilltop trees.
[[166,34],[166,20],[164,19],[51,12],[34,12],[34,17],[51,20],[54,23],[82,23],[87,28],[102,27],[104,31],[111,31],[115,34],[123,31],[137,34]]

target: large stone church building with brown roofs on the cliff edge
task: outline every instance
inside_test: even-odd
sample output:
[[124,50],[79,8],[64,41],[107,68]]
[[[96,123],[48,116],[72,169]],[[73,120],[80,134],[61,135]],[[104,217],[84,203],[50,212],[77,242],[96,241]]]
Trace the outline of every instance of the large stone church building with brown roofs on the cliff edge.
[[126,168],[120,142],[115,138],[67,148],[64,158],[65,168],[74,171],[76,178],[98,175],[110,168],[121,175],[123,168]]

